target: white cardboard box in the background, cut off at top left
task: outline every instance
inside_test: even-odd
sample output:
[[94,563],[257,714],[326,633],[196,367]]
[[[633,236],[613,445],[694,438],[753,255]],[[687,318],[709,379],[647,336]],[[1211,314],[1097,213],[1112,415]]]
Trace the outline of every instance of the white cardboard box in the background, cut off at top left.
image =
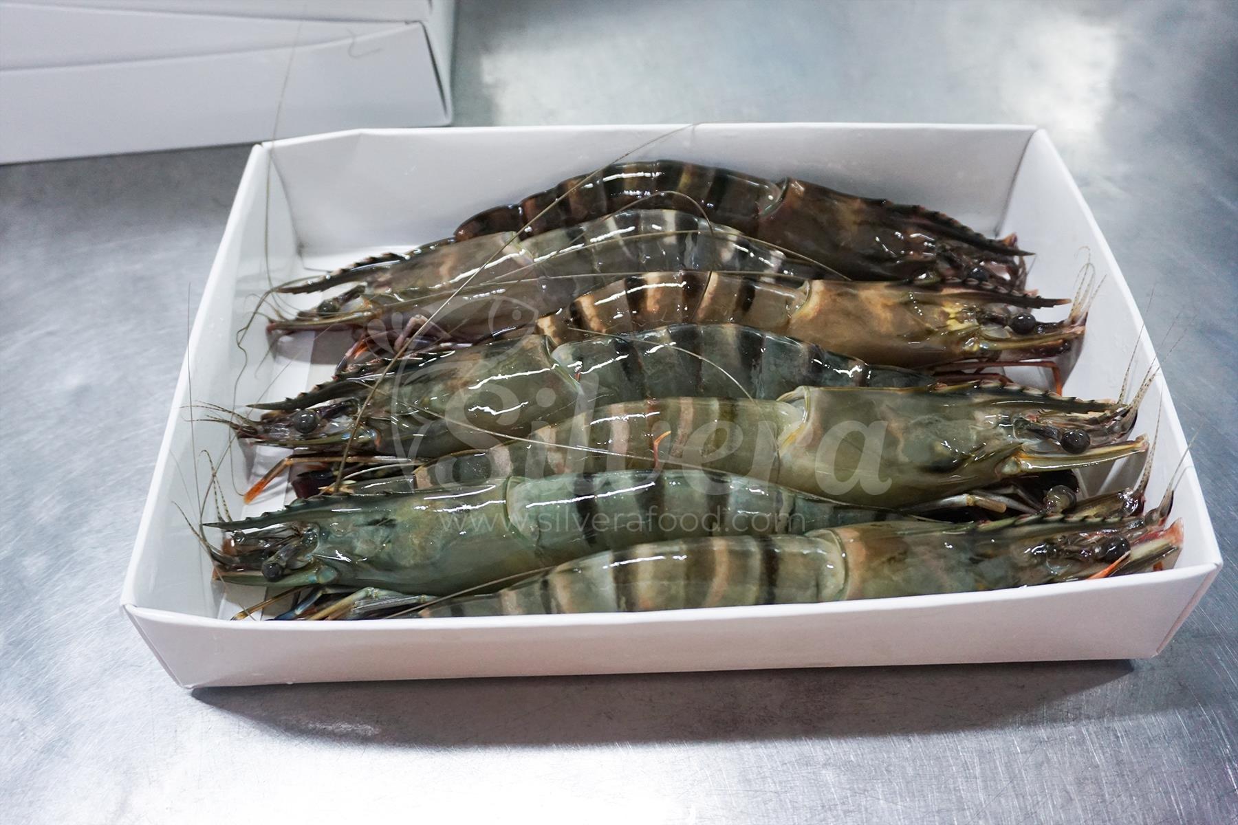
[[453,0],[0,2],[0,163],[451,122]]

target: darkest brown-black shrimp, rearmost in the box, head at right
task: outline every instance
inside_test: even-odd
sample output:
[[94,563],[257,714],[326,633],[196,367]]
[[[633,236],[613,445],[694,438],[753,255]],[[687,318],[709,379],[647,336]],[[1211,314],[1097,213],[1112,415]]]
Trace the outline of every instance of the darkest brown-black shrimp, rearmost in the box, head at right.
[[994,240],[924,207],[682,161],[615,163],[568,178],[469,218],[454,237],[537,235],[636,205],[701,210],[709,220],[849,278],[993,280],[1021,289],[1026,277],[1023,257],[1029,252],[1015,246],[1013,235]]

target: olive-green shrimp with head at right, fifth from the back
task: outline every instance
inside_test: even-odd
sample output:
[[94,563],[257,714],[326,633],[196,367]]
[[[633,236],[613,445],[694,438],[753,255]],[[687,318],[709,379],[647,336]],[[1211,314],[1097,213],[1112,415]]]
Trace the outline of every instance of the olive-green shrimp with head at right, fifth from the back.
[[385,487],[687,466],[857,506],[922,507],[1018,476],[1143,453],[1143,438],[1127,440],[1134,417],[1120,402],[994,382],[800,387],[776,401],[661,397],[599,407],[529,438],[448,455]]

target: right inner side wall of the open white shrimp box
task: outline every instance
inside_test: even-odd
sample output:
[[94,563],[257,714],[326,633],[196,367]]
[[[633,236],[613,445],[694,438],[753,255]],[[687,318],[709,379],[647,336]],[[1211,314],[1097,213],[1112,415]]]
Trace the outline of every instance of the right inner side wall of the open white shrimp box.
[[[1002,230],[1016,230],[1020,246],[1036,252],[1029,284],[1042,294],[1073,296],[1081,273],[1092,277],[1096,292],[1087,315],[1087,334],[1071,359],[1066,395],[1117,398],[1125,386],[1127,397],[1134,396],[1135,387],[1155,365],[1151,340],[1108,244],[1044,131],[1028,145]],[[1198,477],[1186,455],[1187,442],[1159,372],[1143,398],[1133,432],[1156,442],[1148,486],[1151,503],[1160,501],[1179,460],[1186,456],[1172,511],[1172,517],[1181,518],[1186,528],[1179,564],[1221,564]],[[1093,486],[1134,484],[1140,469],[1141,461],[1133,460],[1112,474],[1089,472],[1084,479]]]

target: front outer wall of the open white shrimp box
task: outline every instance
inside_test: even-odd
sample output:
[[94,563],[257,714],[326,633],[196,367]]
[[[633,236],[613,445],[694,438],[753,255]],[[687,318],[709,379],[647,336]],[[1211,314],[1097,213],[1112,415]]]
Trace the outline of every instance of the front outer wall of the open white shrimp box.
[[[604,616],[602,621],[595,616],[530,617],[541,621],[522,626],[436,620],[425,626],[399,621],[340,622],[327,628],[281,623],[275,628],[251,622],[186,623],[144,610],[136,610],[135,618],[173,678],[189,688],[1143,658],[1156,652],[1205,575],[1099,591],[1057,590],[1030,597],[1015,592],[1009,594],[1015,597],[979,604],[941,604],[932,601],[936,597],[928,604],[874,600],[816,610],[756,609],[760,615],[716,609]],[[1123,620],[1115,622],[1115,616]]]

